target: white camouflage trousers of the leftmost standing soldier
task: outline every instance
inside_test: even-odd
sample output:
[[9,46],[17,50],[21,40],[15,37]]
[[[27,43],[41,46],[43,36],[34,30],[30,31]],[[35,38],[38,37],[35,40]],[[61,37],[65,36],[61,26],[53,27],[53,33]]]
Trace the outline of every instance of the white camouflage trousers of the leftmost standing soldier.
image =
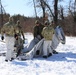
[[6,36],[5,41],[6,41],[6,47],[7,47],[6,60],[11,60],[11,58],[14,58],[15,38],[10,37],[10,36]]

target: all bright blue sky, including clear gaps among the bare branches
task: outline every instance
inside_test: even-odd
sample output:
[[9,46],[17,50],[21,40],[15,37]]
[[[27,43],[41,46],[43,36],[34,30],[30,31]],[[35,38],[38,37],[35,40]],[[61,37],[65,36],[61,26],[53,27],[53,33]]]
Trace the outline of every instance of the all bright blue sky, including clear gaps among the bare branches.
[[[24,16],[35,17],[33,0],[1,0],[2,5],[10,15],[21,14]],[[49,0],[48,0],[49,1]],[[68,10],[69,0],[63,0],[59,4],[63,5],[64,13]],[[74,0],[72,0],[74,1]],[[51,4],[53,6],[53,4]],[[52,7],[51,6],[51,7]],[[37,16],[42,16],[42,11],[37,10]]]

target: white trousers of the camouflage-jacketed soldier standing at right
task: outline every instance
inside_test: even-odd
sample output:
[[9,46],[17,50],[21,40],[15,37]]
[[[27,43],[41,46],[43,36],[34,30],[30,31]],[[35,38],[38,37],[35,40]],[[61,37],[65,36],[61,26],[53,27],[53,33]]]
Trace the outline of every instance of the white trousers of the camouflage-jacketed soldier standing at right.
[[48,56],[49,53],[52,53],[51,43],[52,43],[52,41],[44,40],[44,43],[43,43],[43,56]]

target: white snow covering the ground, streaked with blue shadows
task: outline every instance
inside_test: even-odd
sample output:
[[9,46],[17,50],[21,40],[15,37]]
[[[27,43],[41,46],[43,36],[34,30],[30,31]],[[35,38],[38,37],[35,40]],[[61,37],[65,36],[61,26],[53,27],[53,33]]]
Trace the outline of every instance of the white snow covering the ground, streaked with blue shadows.
[[[25,34],[30,43],[31,33]],[[25,43],[25,45],[26,45]],[[0,41],[0,52],[6,51],[6,44]],[[0,75],[75,75],[76,74],[76,37],[66,36],[66,44],[59,44],[51,57],[32,60],[13,60],[5,62],[5,56],[0,56]]]

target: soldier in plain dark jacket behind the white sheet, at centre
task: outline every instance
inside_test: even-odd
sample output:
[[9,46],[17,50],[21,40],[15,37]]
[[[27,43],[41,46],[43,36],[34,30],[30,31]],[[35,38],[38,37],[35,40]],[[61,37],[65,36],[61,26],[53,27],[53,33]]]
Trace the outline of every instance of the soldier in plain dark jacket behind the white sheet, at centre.
[[34,27],[34,40],[35,43],[38,43],[42,38],[42,29],[44,28],[44,25],[42,25],[38,20],[35,21],[35,27]]

